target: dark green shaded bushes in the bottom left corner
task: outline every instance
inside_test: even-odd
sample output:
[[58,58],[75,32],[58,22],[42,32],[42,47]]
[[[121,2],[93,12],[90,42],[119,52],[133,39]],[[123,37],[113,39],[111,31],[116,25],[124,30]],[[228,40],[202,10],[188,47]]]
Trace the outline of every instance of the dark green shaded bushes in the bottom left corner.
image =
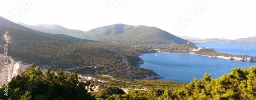
[[[50,70],[45,74],[40,68],[31,65],[22,74],[8,83],[8,96],[0,95],[1,99],[95,99],[87,93],[87,83],[79,82],[76,71],[73,74],[63,73],[59,69],[57,75]],[[4,85],[2,86],[4,87]],[[0,88],[0,93],[5,93]]]

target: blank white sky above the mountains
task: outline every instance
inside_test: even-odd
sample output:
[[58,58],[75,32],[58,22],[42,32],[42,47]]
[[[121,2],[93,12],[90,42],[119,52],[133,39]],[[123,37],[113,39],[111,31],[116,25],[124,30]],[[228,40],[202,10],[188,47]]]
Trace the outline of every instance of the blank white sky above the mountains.
[[0,0],[0,16],[82,31],[123,23],[174,35],[237,39],[256,36],[255,5],[254,0]]

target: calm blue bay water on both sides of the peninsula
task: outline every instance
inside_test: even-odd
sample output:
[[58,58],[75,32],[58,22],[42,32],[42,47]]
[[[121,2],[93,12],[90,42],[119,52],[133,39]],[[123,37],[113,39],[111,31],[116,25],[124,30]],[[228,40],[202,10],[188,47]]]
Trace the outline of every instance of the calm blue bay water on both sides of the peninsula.
[[[224,51],[223,53],[230,54],[236,54],[236,51],[241,47],[241,45],[237,44],[218,43],[202,43],[200,45],[212,47],[218,52]],[[255,55],[253,53],[256,53],[256,49],[253,46],[245,45],[245,47],[251,47],[250,49],[246,48],[246,55]],[[225,73],[231,72],[231,68],[246,67],[248,69],[250,66],[256,66],[256,62],[225,60],[190,54],[157,53],[156,56],[156,53],[151,53],[139,57],[144,60],[144,63],[140,64],[141,68],[153,69],[160,76],[164,77],[156,80],[185,83],[191,82],[193,78],[202,79],[205,72],[211,73],[212,78],[218,78]]]

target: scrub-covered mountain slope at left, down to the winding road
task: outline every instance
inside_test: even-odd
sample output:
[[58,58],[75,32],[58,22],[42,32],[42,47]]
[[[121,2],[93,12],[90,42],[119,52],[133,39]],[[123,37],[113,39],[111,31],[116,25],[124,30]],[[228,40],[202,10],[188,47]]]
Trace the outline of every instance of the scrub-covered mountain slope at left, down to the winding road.
[[113,52],[117,44],[67,41],[6,20],[0,18],[0,36],[3,37],[0,38],[1,53],[4,53],[3,45],[8,43],[8,56],[18,61],[49,66],[109,65],[120,62],[120,56]]

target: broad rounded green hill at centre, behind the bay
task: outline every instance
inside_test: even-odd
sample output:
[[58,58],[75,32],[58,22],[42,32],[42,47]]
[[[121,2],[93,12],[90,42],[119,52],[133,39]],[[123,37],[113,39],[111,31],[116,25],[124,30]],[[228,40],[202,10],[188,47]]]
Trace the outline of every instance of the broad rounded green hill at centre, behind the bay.
[[93,39],[98,41],[116,41],[126,44],[170,44],[187,43],[187,40],[181,39],[173,34],[155,27],[130,26],[126,24],[113,24],[92,29],[80,35],[84,39]]

